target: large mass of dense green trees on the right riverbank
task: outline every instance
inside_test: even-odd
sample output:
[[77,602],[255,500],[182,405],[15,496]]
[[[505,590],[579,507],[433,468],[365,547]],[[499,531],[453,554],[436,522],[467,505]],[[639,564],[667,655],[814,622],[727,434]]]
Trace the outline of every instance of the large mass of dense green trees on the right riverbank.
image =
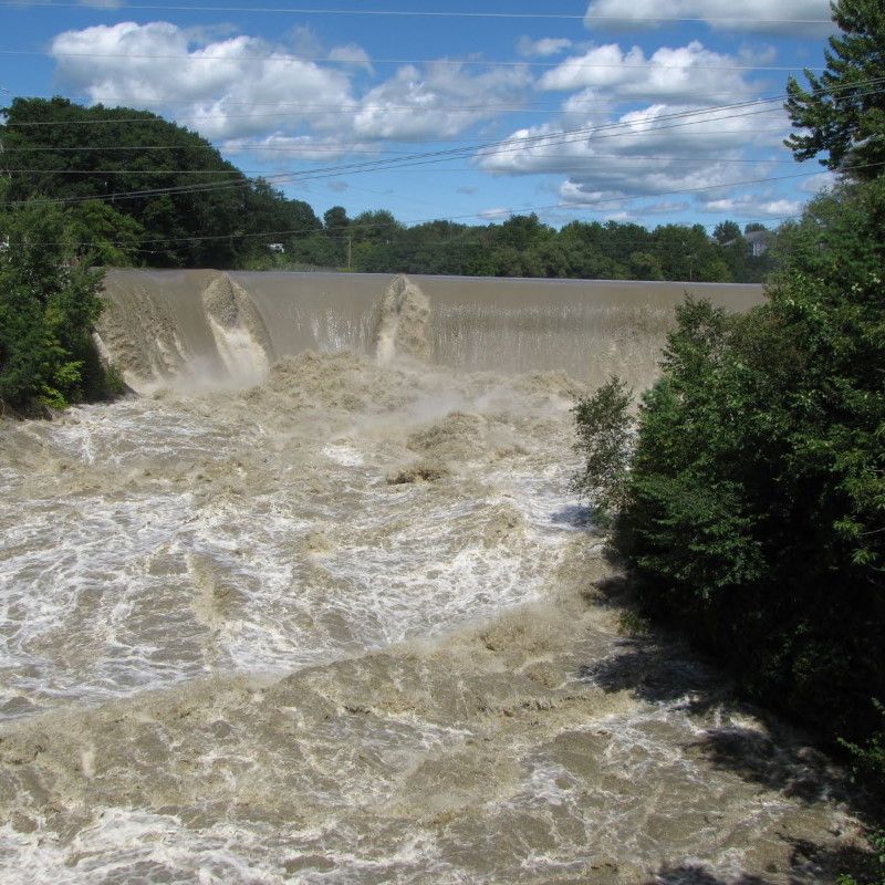
[[843,187],[767,304],[686,299],[620,521],[646,610],[832,739],[870,733],[885,696],[883,212],[885,181]]

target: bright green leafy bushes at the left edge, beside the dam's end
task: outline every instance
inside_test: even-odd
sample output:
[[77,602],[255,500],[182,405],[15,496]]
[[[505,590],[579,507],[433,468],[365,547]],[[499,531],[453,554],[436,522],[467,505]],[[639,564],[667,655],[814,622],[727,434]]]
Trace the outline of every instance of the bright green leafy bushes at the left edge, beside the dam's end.
[[102,274],[77,259],[75,223],[54,207],[6,217],[0,252],[0,400],[19,410],[102,396],[92,340]]

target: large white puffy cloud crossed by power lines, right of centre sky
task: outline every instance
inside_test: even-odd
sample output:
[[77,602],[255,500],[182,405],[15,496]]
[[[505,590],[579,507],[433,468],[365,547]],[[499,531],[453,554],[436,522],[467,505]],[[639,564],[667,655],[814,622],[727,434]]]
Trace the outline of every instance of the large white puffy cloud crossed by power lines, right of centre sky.
[[[658,76],[654,65],[641,66],[641,50],[597,49],[593,58],[608,59],[608,66],[564,62],[542,77],[542,88],[581,90],[565,100],[559,121],[514,132],[506,144],[480,152],[476,165],[493,175],[560,176],[563,205],[606,212],[633,211],[637,200],[665,195],[685,194],[700,204],[725,200],[742,183],[770,174],[769,129],[773,124],[779,138],[789,131],[779,105],[701,107],[683,98],[680,71]],[[689,61],[712,55],[696,44],[666,53]],[[730,88],[747,91],[749,85],[735,74]],[[636,95],[648,94],[660,101],[635,106]],[[593,107],[596,114],[589,111]],[[601,107],[608,108],[602,116]],[[676,209],[659,201],[643,208],[644,214],[670,211]]]

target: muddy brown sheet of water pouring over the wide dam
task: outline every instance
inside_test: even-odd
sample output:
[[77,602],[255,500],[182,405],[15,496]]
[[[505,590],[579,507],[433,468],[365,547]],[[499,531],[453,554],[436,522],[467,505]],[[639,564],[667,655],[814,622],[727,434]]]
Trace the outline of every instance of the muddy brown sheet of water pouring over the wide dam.
[[559,369],[642,388],[687,288],[732,311],[758,285],[341,273],[108,273],[102,339],[136,386],[254,383],[282,356],[396,352],[462,372]]

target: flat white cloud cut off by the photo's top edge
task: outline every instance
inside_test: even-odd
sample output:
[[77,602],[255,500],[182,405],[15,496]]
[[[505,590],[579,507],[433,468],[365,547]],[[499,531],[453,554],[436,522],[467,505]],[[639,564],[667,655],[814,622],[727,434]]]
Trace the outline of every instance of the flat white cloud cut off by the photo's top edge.
[[820,37],[833,30],[829,0],[592,0],[584,24],[595,31],[635,31],[674,19],[756,34]]

